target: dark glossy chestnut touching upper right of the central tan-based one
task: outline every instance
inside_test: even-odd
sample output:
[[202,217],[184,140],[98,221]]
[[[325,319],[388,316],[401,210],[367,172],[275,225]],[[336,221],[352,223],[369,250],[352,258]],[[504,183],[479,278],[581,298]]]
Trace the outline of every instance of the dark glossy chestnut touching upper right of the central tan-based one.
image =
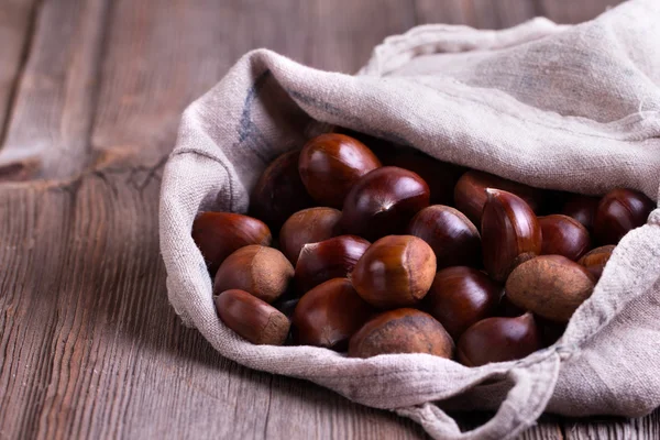
[[424,208],[410,220],[407,233],[419,237],[431,246],[439,270],[481,265],[479,230],[457,209],[442,205]]

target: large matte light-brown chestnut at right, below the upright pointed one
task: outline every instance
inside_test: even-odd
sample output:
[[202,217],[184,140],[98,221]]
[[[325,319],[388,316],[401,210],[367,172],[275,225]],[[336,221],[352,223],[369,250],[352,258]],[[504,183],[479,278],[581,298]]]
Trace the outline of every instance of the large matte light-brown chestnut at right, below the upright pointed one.
[[568,322],[591,296],[594,278],[565,256],[541,255],[516,267],[505,288],[516,306],[554,322]]

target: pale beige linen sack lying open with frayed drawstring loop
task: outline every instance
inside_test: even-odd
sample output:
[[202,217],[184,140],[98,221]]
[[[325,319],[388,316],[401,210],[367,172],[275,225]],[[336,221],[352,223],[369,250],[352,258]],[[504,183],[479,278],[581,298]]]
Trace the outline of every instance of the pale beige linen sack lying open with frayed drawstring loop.
[[[245,211],[266,164],[315,121],[525,184],[584,194],[660,184],[660,2],[576,26],[426,25],[387,38],[358,76],[270,51],[242,57],[184,113],[161,196],[169,300],[224,356],[396,410],[438,439],[513,438],[543,410],[639,416],[660,405],[660,210],[624,238],[564,337],[519,362],[468,369],[426,354],[346,359],[256,346],[222,324],[190,238],[200,210]],[[497,409],[461,432],[441,409]]]

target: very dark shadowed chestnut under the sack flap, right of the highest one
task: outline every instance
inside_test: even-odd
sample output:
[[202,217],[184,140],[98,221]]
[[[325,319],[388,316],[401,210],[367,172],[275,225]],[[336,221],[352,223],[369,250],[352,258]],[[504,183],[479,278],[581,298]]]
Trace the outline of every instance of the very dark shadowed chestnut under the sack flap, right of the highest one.
[[465,168],[410,148],[391,156],[382,160],[383,165],[398,166],[419,175],[429,186],[431,205],[453,206],[454,187]]

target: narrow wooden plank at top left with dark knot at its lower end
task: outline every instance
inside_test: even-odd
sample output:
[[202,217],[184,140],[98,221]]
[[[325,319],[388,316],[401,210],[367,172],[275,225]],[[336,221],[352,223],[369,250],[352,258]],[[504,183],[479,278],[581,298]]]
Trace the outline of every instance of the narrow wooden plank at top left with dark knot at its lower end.
[[2,179],[63,178],[89,162],[109,0],[52,0],[36,18],[0,153]]

